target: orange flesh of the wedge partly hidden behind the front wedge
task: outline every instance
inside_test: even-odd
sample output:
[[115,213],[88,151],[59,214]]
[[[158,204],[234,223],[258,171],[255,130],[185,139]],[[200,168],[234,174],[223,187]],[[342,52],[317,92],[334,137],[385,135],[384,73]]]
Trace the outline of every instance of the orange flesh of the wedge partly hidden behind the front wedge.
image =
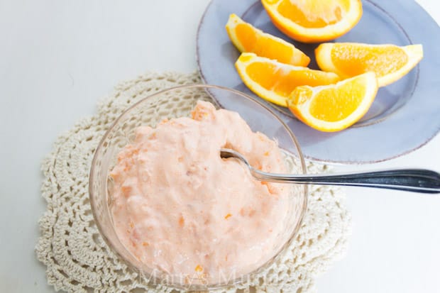
[[339,80],[336,77],[328,77],[325,72],[286,70],[268,62],[253,62],[246,67],[246,73],[254,82],[260,84],[261,87],[273,91],[280,96],[289,96],[295,87],[302,85],[316,87],[332,84]]

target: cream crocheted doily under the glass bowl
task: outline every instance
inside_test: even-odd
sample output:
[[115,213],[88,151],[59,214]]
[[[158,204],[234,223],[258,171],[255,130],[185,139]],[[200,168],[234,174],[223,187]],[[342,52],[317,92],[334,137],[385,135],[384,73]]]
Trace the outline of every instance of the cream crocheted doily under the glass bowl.
[[[42,195],[48,202],[40,219],[37,258],[47,266],[48,283],[66,292],[172,292],[150,285],[104,243],[89,204],[88,179],[94,150],[104,132],[128,106],[180,84],[201,83],[198,74],[147,73],[119,84],[98,106],[57,138],[43,162]],[[187,98],[186,98],[187,99]],[[194,98],[195,99],[195,98]],[[176,107],[185,100],[176,103]],[[172,111],[172,109],[169,109]],[[307,164],[308,172],[327,172]],[[307,213],[295,241],[260,277],[227,292],[313,292],[314,277],[346,251],[351,217],[345,195],[335,187],[309,188]]]

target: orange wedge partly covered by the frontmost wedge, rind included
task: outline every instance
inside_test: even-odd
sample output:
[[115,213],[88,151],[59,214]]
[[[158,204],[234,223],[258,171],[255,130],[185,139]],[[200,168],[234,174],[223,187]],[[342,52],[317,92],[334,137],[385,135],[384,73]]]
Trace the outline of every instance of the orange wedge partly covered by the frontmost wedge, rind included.
[[280,106],[287,106],[287,96],[295,87],[333,84],[339,81],[339,76],[332,72],[288,65],[246,52],[238,57],[236,69],[252,92]]

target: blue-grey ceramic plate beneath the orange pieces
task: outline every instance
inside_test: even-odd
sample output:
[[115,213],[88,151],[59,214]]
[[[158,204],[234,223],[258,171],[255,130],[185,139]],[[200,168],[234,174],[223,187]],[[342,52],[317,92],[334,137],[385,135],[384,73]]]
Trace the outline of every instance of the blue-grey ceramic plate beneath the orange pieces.
[[[377,1],[377,2],[376,2]],[[213,0],[199,24],[197,62],[208,84],[238,89],[263,101],[241,82],[234,62],[240,53],[232,45],[224,26],[229,14],[267,33],[283,38],[312,58],[317,45],[298,43],[273,26],[255,0]],[[342,163],[370,163],[388,160],[419,148],[440,130],[440,28],[429,14],[412,0],[363,1],[361,21],[336,42],[421,43],[424,59],[409,74],[379,90],[373,105],[356,125],[337,133],[323,133],[304,125],[282,107],[268,102],[292,129],[304,156],[311,160]],[[214,96],[224,104],[221,96]]]

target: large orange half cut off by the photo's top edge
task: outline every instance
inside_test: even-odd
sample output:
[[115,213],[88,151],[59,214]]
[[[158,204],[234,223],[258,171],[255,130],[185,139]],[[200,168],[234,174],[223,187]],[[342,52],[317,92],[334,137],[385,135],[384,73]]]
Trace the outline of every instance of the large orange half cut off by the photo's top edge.
[[262,0],[273,24],[304,43],[334,40],[356,26],[361,0]]

